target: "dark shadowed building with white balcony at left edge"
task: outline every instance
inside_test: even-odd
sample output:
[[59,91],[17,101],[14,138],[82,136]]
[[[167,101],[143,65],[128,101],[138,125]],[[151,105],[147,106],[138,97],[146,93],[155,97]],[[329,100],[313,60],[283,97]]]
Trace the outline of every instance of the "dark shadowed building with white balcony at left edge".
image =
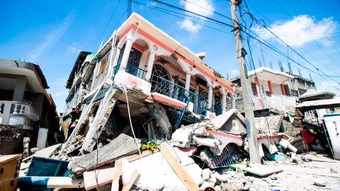
[[[19,129],[21,138],[31,137],[31,146],[36,144],[39,127],[50,132],[59,128],[55,103],[46,88],[47,81],[38,65],[0,59],[0,124]],[[1,142],[0,147],[6,148],[4,144]]]

